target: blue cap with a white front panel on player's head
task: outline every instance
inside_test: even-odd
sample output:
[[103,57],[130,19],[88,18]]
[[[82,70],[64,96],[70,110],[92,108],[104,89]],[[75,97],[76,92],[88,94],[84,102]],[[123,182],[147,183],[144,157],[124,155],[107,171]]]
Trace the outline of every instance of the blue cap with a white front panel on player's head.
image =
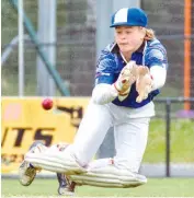
[[148,24],[148,18],[144,10],[138,8],[123,8],[116,11],[112,16],[112,24],[115,26],[142,26]]

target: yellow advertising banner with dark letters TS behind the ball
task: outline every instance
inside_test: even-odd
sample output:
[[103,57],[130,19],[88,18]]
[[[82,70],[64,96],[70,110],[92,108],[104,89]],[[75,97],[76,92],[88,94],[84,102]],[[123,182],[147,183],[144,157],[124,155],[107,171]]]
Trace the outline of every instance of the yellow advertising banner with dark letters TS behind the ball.
[[16,173],[30,145],[72,142],[89,97],[56,97],[45,110],[42,97],[2,97],[1,172]]

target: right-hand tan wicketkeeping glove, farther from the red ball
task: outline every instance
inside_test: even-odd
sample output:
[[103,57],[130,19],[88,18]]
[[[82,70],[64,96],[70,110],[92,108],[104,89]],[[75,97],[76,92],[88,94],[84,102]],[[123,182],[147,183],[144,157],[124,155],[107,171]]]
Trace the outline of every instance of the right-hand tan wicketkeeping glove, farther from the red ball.
[[136,98],[137,103],[140,103],[148,97],[148,94],[151,92],[152,89],[152,82],[153,81],[148,67],[139,66],[138,77],[136,80],[136,90],[139,94]]

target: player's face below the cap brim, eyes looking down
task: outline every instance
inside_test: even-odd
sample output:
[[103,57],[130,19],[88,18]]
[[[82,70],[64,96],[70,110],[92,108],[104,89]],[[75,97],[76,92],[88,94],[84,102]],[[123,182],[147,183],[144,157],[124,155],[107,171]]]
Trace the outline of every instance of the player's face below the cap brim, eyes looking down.
[[136,51],[144,42],[146,31],[139,26],[115,27],[115,42],[123,54]]

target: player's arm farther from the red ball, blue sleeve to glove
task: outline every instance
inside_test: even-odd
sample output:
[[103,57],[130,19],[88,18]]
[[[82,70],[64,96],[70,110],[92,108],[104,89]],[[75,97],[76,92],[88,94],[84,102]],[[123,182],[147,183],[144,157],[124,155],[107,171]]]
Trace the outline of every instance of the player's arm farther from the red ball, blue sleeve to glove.
[[136,89],[138,92],[137,102],[148,97],[148,94],[157,89],[161,89],[167,79],[167,55],[164,49],[153,48],[149,51],[147,58],[147,66],[140,66],[138,70],[138,78],[136,81]]

